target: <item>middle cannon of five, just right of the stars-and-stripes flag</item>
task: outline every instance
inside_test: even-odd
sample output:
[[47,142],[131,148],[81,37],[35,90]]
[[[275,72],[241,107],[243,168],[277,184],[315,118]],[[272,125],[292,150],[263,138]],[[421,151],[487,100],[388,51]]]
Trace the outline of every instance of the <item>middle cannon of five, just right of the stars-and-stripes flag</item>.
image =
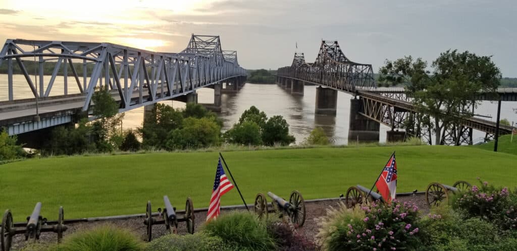
[[267,195],[272,199],[271,210],[268,208],[266,196],[259,193],[255,196],[254,211],[258,214],[258,218],[267,217],[268,212],[280,212],[282,217],[287,217],[293,224],[298,227],[305,223],[305,200],[300,192],[293,191],[289,197],[289,202],[283,198],[268,192]]

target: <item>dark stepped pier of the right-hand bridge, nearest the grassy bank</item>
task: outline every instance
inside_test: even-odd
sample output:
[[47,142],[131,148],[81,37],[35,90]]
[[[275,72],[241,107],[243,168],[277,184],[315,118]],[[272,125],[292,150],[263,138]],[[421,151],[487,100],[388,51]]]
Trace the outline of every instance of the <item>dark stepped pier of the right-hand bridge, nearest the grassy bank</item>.
[[362,109],[360,99],[350,100],[350,122],[348,128],[348,143],[379,142],[381,124],[359,114]]

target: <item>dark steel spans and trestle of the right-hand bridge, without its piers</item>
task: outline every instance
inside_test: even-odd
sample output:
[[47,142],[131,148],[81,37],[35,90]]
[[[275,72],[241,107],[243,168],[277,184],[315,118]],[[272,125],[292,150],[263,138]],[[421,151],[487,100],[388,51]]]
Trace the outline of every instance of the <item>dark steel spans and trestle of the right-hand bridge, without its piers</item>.
[[[431,129],[422,127],[422,112],[406,97],[403,88],[377,88],[372,66],[349,60],[338,41],[322,41],[316,60],[305,61],[303,53],[295,53],[291,66],[278,69],[280,81],[291,79],[350,93],[361,102],[358,114],[393,129],[404,129],[406,135],[417,136],[431,144]],[[517,101],[517,88],[499,88],[498,97],[479,93],[475,100]],[[427,116],[429,117],[429,116]],[[412,128],[408,128],[412,124]],[[496,123],[480,118],[461,119],[450,124],[441,136],[446,145],[473,144],[472,130],[484,132],[485,139],[496,133]],[[511,133],[511,127],[499,125],[499,135]]]

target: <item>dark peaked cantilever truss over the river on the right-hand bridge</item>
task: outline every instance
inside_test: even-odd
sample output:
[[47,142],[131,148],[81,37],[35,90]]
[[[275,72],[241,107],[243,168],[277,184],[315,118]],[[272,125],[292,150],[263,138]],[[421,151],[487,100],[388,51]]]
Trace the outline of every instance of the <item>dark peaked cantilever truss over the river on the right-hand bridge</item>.
[[312,64],[305,62],[302,53],[295,53],[293,64],[279,68],[277,74],[347,92],[375,87],[372,65],[349,60],[338,41],[322,41]]

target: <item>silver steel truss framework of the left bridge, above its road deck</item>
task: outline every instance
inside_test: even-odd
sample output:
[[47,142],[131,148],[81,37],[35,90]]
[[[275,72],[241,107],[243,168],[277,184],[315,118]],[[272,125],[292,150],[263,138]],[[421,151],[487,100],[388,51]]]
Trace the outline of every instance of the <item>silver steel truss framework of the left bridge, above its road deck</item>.
[[[38,66],[39,88],[25,66],[34,58],[37,59],[33,64]],[[246,70],[238,64],[237,53],[221,50],[219,36],[192,35],[188,47],[181,53],[151,52],[113,43],[8,39],[0,51],[0,66],[8,65],[9,101],[14,100],[13,61],[21,69],[35,98],[49,97],[59,73],[65,76],[63,94],[67,97],[67,76],[71,69],[75,84],[85,96],[83,111],[88,110],[98,86],[118,92],[120,112],[124,112],[246,75]],[[47,80],[44,64],[54,66]],[[78,66],[82,66],[82,76],[78,74]]]

